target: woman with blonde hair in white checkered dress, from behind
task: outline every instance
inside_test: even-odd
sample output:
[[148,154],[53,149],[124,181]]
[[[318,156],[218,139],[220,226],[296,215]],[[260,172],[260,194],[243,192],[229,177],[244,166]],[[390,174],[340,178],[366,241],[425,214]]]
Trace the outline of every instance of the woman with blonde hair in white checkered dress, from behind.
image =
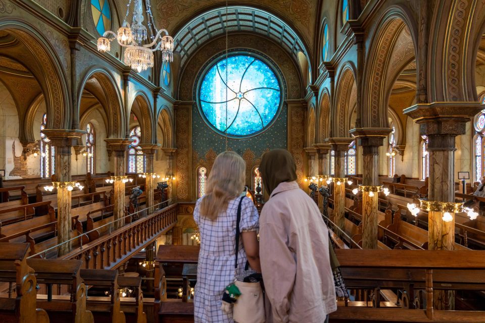
[[258,210],[247,197],[241,197],[246,177],[243,158],[232,151],[219,154],[207,181],[206,194],[193,211],[201,233],[201,250],[195,287],[195,322],[233,322],[232,313],[221,309],[222,295],[234,281],[236,217],[240,205],[240,232],[237,268],[246,262],[260,273],[257,239]]

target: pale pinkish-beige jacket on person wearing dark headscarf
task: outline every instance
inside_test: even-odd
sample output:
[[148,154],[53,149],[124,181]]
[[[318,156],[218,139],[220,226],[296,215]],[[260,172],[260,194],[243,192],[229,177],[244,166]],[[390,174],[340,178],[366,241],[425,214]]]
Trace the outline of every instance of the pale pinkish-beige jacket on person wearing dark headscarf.
[[260,258],[273,322],[321,323],[336,310],[328,229],[296,182],[280,183],[260,217]]

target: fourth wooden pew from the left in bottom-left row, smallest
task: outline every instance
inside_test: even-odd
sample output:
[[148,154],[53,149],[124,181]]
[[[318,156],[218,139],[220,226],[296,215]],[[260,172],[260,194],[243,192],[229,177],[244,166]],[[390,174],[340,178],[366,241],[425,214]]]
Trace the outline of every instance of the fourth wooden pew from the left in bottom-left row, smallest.
[[147,314],[143,312],[141,277],[118,276],[118,287],[133,290],[132,297],[121,295],[121,310],[125,313],[126,320],[133,323],[147,323]]

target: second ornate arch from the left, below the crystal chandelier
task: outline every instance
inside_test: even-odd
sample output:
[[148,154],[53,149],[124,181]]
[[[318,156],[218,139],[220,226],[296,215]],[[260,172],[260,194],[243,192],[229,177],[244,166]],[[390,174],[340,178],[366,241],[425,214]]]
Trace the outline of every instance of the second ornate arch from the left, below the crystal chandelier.
[[110,116],[106,119],[108,138],[123,138],[125,134],[125,120],[121,93],[116,85],[113,75],[107,69],[100,66],[95,66],[86,72],[78,87],[78,105],[75,113],[78,115],[80,114],[82,92],[86,87],[86,83],[91,79],[98,81],[103,90],[104,97],[98,98],[98,100],[100,101],[105,115]]

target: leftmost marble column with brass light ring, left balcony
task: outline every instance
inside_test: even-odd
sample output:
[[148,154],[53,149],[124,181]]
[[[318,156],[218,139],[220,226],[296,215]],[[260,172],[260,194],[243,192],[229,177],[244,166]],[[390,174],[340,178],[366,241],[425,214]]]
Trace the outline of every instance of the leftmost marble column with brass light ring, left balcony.
[[[57,187],[57,243],[64,243],[71,239],[71,190],[75,187],[71,182],[71,147],[78,145],[82,130],[45,129],[51,144],[56,147],[56,179],[53,183]],[[58,249],[58,256],[71,250],[71,243],[64,243]]]

